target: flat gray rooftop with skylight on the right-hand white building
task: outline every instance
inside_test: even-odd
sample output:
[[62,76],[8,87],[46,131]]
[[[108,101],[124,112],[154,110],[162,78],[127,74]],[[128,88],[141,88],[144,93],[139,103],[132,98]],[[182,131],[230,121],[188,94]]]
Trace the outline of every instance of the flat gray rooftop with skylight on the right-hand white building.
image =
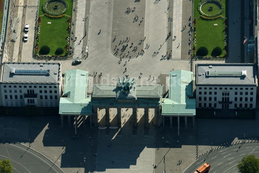
[[255,64],[197,64],[196,85],[256,85]]

